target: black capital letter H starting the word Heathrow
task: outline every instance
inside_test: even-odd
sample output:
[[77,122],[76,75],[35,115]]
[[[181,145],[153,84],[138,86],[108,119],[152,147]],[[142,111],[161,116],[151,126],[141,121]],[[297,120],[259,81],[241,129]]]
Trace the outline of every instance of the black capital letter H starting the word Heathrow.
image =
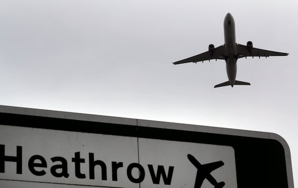
[[22,174],[22,146],[16,146],[16,157],[5,156],[5,145],[0,144],[0,173],[4,173],[5,161],[16,162],[16,173]]

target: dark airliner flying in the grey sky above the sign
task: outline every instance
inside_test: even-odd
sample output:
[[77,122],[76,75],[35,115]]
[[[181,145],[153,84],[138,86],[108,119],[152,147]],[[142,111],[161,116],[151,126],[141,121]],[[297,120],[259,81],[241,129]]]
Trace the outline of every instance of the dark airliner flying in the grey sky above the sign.
[[251,41],[248,41],[246,46],[240,45],[236,43],[235,39],[235,22],[234,18],[230,13],[227,13],[224,17],[224,45],[220,47],[214,47],[213,44],[209,45],[208,51],[182,59],[180,61],[173,62],[174,65],[181,63],[193,62],[197,63],[199,61],[206,61],[211,59],[224,59],[226,74],[228,81],[218,84],[214,86],[214,88],[223,87],[223,86],[231,86],[234,85],[250,85],[248,82],[241,82],[236,80],[236,72],[237,72],[237,59],[242,57],[269,57],[269,56],[285,56],[289,55],[289,53],[282,53],[276,51],[269,51],[265,49],[255,48],[252,45]]

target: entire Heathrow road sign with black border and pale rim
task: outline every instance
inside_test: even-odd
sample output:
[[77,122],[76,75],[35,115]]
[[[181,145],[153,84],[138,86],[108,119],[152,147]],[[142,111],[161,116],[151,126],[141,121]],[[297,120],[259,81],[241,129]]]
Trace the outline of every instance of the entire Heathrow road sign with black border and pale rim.
[[294,188],[272,133],[0,106],[0,187]]

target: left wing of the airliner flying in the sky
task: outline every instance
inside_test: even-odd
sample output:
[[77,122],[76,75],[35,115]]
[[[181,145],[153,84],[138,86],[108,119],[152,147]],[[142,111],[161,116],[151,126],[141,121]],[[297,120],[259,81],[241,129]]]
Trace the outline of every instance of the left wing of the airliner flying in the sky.
[[189,63],[189,62],[199,62],[199,61],[206,61],[210,59],[224,59],[224,45],[220,47],[213,48],[214,51],[206,51],[204,53],[182,59],[180,61],[173,62],[174,65],[181,64],[181,63]]

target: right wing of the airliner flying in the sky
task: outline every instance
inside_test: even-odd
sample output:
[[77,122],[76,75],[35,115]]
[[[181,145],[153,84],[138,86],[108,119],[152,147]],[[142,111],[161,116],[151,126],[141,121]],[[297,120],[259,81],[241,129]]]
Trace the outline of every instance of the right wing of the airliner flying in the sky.
[[252,47],[251,52],[249,52],[248,47],[244,45],[237,45],[238,58],[241,57],[269,57],[269,56],[285,56],[289,55],[289,53],[277,52],[277,51],[269,51],[266,49],[259,49]]

